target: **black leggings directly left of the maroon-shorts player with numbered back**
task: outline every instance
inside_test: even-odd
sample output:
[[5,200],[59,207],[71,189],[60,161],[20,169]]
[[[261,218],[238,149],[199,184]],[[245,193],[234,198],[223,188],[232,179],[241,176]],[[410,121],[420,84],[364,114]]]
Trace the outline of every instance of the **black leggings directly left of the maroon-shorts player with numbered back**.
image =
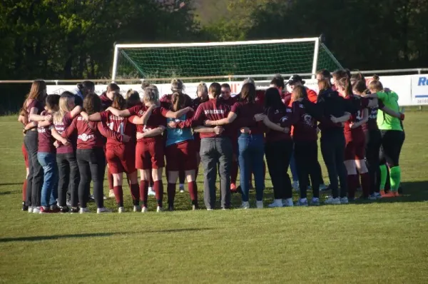
[[103,181],[104,167],[106,166],[103,148],[77,149],[76,157],[78,171],[81,176],[80,183],[78,184],[78,200],[81,203],[81,207],[86,208],[92,178],[93,196],[95,197],[96,206],[103,208]]

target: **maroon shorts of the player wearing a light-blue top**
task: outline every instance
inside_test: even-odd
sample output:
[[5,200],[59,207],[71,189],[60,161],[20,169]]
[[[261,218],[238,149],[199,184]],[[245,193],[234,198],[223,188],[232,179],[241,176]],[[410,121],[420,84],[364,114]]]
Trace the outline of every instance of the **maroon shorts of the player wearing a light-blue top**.
[[195,142],[187,140],[165,148],[168,171],[191,171],[197,167]]

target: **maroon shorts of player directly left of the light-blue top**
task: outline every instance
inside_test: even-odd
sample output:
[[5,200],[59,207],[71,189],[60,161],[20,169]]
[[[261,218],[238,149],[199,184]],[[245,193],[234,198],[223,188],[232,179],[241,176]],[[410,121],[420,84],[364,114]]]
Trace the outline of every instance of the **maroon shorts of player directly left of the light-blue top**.
[[136,168],[150,170],[165,167],[163,141],[138,141],[136,146]]

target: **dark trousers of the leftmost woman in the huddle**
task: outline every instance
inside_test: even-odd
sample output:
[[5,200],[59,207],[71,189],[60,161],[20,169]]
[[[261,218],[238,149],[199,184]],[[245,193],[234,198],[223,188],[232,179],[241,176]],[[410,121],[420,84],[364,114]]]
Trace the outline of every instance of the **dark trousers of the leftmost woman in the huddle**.
[[28,131],[24,145],[29,155],[29,176],[27,177],[26,206],[40,206],[41,186],[43,186],[43,168],[37,159],[39,133]]

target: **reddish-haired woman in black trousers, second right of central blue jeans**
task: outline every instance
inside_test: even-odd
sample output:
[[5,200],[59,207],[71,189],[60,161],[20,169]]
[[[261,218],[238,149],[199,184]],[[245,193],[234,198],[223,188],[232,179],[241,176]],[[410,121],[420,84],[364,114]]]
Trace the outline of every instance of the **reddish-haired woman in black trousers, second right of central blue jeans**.
[[295,143],[295,161],[297,166],[297,176],[299,177],[300,199],[297,206],[308,206],[307,202],[307,181],[310,176],[312,185],[313,206],[320,205],[320,173],[318,163],[317,146],[317,122],[306,110],[300,101],[310,98],[304,86],[295,86],[292,90],[292,140]]

